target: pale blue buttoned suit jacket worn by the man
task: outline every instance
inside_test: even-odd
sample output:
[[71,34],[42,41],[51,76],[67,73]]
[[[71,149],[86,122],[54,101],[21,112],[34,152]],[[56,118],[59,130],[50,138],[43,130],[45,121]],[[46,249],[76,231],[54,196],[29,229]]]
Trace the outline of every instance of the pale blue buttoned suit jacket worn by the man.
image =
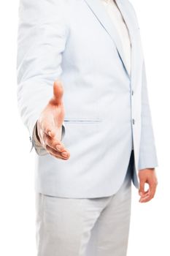
[[[63,82],[63,161],[36,151],[36,191],[102,197],[123,183],[134,145],[138,171],[158,166],[139,24],[117,0],[131,37],[131,75],[115,27],[100,0],[20,0],[18,109],[32,138],[36,120]],[[34,141],[31,140],[32,148]],[[32,149],[31,148],[31,149]]]

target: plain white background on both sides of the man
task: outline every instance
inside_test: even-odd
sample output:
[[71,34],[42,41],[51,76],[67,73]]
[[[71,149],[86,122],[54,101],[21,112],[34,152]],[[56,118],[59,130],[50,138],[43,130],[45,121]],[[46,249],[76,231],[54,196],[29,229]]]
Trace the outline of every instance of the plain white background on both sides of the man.
[[[133,187],[128,256],[166,256],[170,255],[170,5],[168,0],[131,2],[141,29],[159,167],[158,189],[152,201],[139,203],[138,191]],[[36,255],[36,153],[29,153],[28,130],[17,106],[18,0],[1,1],[0,12],[0,255],[31,256]]]

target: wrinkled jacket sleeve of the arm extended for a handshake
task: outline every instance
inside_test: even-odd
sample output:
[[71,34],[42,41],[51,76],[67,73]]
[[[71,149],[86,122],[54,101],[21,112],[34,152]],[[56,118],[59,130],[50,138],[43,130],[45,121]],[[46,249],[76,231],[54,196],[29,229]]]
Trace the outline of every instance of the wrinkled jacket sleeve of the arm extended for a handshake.
[[[36,121],[53,97],[54,81],[61,76],[62,53],[69,31],[66,24],[63,0],[20,0],[18,110],[28,128],[31,150],[35,145],[33,132]],[[64,123],[63,130],[65,132]]]

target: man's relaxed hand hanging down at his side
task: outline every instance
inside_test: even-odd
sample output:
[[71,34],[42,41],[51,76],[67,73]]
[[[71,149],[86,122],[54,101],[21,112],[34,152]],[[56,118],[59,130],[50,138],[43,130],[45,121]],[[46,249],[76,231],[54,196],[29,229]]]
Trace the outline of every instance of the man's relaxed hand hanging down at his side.
[[[157,177],[155,174],[155,168],[139,170],[139,181],[139,195],[141,196],[139,202],[146,203],[154,197],[156,187],[158,185]],[[147,191],[144,191],[145,183],[149,184],[149,189],[147,189]]]

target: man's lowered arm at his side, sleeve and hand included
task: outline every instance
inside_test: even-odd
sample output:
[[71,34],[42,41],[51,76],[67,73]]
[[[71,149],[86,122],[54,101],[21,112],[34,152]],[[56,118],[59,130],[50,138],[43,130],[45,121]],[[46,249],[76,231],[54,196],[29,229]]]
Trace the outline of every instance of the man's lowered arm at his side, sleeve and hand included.
[[[152,117],[147,93],[147,78],[143,63],[142,71],[142,130],[139,151],[139,195],[140,203],[146,203],[155,196],[158,185],[155,167],[158,166],[158,159],[155,148],[155,138],[152,129]],[[144,190],[144,184],[149,184],[149,189]]]

